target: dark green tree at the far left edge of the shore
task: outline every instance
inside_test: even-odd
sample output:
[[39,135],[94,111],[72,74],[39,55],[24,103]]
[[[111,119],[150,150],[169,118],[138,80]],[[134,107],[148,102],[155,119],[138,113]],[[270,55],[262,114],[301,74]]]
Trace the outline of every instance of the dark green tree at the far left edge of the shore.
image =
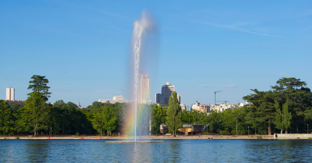
[[0,100],[0,135],[12,134],[14,120],[13,112],[7,102]]

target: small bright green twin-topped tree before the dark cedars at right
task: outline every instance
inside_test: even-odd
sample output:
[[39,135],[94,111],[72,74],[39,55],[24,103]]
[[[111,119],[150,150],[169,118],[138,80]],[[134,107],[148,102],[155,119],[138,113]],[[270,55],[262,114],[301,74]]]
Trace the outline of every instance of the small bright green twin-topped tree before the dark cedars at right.
[[[275,127],[277,129],[280,129],[280,133],[283,133],[283,130],[288,128],[290,126],[290,120],[291,120],[291,113],[288,112],[288,104],[284,103],[282,106],[282,111],[280,111],[280,106],[275,100],[275,108],[276,108],[276,113],[275,113]],[[285,132],[287,133],[287,132]]]

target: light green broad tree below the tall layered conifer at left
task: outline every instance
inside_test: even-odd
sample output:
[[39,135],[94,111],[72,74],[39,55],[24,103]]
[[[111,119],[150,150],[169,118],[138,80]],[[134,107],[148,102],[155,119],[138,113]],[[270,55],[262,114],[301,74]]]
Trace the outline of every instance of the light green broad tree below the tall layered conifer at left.
[[17,131],[33,132],[36,136],[37,131],[50,128],[47,126],[50,119],[50,106],[46,103],[45,97],[41,93],[30,93],[25,106],[19,108],[17,111],[19,112],[16,126]]

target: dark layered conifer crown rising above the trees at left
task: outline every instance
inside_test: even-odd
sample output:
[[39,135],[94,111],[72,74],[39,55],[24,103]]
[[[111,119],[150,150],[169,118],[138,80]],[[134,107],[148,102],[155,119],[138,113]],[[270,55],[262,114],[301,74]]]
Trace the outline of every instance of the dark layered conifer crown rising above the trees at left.
[[[48,98],[50,98],[51,92],[49,92],[50,87],[47,86],[49,83],[48,79],[45,79],[46,76],[40,76],[40,75],[33,75],[31,79],[32,81],[29,81],[29,87],[27,89],[32,89],[33,92],[41,93],[41,95],[44,97],[45,101],[48,101]],[[32,92],[32,93],[33,93]],[[31,93],[28,93],[27,95],[30,95]]]

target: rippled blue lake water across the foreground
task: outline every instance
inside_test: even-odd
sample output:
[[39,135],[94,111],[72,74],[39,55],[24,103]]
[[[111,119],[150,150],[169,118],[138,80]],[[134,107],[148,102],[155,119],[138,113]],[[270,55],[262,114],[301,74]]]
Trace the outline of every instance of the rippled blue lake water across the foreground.
[[311,139],[105,141],[111,140],[0,140],[0,162],[312,162]]

